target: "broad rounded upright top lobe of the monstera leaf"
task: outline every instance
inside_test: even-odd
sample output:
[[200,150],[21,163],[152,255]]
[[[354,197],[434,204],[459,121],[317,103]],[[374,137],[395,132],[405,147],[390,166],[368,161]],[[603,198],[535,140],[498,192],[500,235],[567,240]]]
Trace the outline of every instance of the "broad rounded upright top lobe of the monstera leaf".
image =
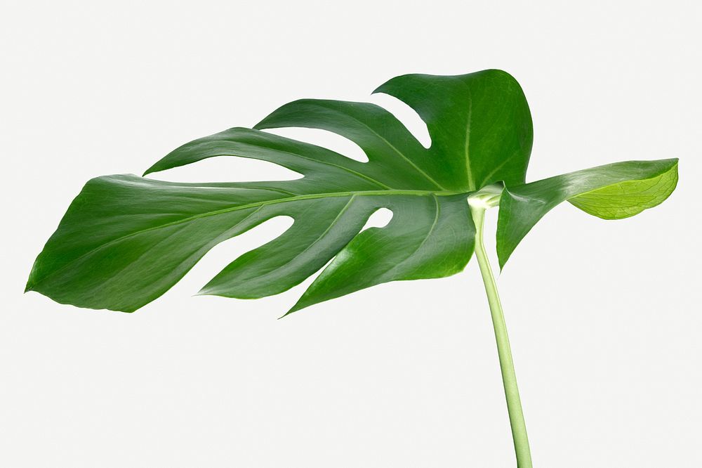
[[507,72],[405,74],[374,92],[404,101],[427,124],[430,160],[447,188],[524,182],[534,138],[531,113],[522,87]]

